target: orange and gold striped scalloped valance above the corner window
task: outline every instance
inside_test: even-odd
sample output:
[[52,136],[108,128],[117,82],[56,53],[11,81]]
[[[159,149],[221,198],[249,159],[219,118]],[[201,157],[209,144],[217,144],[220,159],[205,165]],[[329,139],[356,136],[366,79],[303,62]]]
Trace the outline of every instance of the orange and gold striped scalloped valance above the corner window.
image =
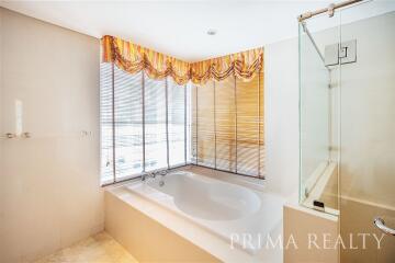
[[114,36],[103,36],[103,62],[137,73],[144,70],[151,79],[172,77],[178,84],[192,80],[204,84],[207,80],[224,80],[235,76],[251,80],[263,68],[263,48],[250,49],[199,62],[187,62]]

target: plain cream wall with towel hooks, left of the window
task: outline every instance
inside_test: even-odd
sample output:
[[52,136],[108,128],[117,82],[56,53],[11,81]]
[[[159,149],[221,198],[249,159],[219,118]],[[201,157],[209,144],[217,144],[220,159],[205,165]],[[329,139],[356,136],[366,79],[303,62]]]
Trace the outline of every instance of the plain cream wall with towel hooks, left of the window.
[[12,263],[103,228],[100,45],[4,9],[0,15],[0,134],[15,130],[15,99],[32,133],[0,139],[0,262]]

